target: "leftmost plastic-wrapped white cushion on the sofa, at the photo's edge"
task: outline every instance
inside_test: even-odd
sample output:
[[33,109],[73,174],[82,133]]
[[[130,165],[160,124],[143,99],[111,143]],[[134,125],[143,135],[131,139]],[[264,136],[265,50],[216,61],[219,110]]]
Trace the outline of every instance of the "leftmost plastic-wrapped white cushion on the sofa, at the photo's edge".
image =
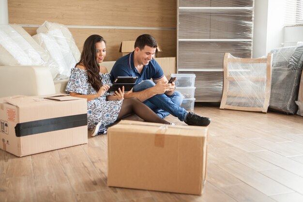
[[53,78],[58,64],[21,26],[0,25],[0,65],[42,65],[50,69]]

